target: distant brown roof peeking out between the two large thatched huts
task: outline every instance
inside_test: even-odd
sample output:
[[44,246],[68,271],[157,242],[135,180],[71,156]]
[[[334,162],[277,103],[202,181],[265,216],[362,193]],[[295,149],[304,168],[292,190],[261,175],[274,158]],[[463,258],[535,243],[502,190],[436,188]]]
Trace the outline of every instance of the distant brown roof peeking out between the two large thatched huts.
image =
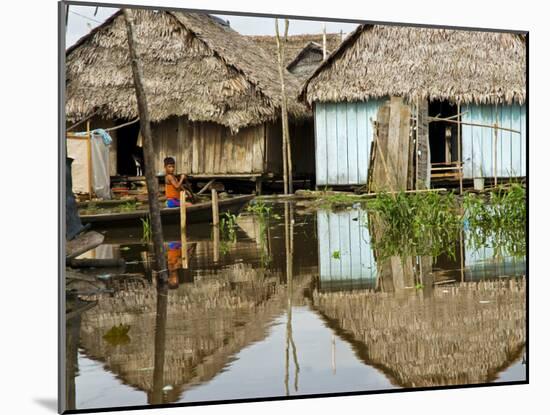
[[[275,29],[273,29],[275,30]],[[248,36],[254,40],[259,46],[264,48],[271,55],[277,57],[277,42],[275,36]],[[327,51],[335,50],[341,42],[341,35],[339,33],[327,33]],[[285,67],[288,68],[290,64],[296,60],[298,55],[303,53],[304,49],[310,46],[311,43],[317,43],[323,45],[323,34],[304,34],[304,35],[289,35],[285,44]]]

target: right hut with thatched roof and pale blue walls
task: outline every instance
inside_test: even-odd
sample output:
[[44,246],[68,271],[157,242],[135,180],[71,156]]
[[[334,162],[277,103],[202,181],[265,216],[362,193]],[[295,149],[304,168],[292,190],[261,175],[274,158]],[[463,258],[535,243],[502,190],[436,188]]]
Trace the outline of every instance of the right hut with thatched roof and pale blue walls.
[[[359,26],[301,91],[301,98],[315,107],[318,185],[365,183],[370,120],[376,120],[378,108],[391,96],[420,104],[419,108],[425,103],[430,116],[456,119],[458,112],[463,114],[461,131],[456,123],[430,124],[432,163],[463,161],[467,178],[493,176],[495,169],[498,177],[525,175],[524,35]],[[466,123],[498,123],[519,134],[498,132],[495,161],[492,130]],[[358,161],[351,163],[351,171],[347,161],[355,153]]]

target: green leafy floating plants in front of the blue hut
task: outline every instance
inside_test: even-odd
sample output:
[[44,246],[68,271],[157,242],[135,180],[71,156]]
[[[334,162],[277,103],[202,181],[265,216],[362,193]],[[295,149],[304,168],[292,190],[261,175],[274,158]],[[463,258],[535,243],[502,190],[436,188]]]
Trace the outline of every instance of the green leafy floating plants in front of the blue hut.
[[381,193],[368,202],[373,247],[391,256],[455,257],[454,241],[466,229],[469,247],[491,247],[495,256],[526,252],[526,190],[520,184],[499,187],[488,197],[452,193]]

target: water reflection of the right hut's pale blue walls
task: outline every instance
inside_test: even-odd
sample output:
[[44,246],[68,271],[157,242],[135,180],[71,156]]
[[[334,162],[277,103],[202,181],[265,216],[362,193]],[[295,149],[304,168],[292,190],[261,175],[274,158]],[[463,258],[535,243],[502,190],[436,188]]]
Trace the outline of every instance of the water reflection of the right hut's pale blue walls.
[[[371,232],[376,232],[375,236]],[[394,291],[413,288],[416,283],[428,286],[442,281],[525,275],[525,257],[514,258],[506,252],[495,257],[491,247],[474,248],[468,232],[461,236],[463,240],[452,242],[450,254],[401,257],[399,246],[381,243],[383,226],[366,210],[318,210],[319,288]],[[386,249],[389,251],[384,252]]]

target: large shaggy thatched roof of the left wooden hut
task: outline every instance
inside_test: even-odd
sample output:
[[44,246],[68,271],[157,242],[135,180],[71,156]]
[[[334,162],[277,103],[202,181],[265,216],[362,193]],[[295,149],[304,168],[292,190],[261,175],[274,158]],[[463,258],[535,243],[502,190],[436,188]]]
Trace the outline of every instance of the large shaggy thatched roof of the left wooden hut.
[[[274,120],[280,84],[272,56],[207,14],[134,10],[138,52],[152,121],[187,116],[236,131]],[[126,26],[119,10],[66,53],[69,121],[137,114]],[[287,73],[287,84],[298,81]],[[291,116],[306,116],[289,102]]]

